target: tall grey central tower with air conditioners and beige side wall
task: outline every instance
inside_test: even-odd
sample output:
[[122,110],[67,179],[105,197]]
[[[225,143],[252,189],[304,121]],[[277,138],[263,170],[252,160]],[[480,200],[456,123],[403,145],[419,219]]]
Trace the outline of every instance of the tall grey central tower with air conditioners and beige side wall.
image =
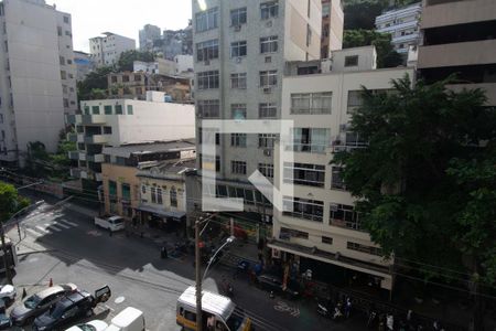
[[[287,61],[321,56],[322,4],[321,0],[207,0],[205,8],[200,8],[198,1],[192,2],[201,168],[206,164],[201,154],[203,119],[280,118]],[[272,207],[249,184],[248,177],[258,169],[268,177],[273,174],[276,139],[268,134],[218,137],[216,160],[208,167],[216,170],[222,192],[245,197],[245,213],[236,217],[251,223],[270,221]],[[205,156],[205,161],[207,157],[212,156]]]

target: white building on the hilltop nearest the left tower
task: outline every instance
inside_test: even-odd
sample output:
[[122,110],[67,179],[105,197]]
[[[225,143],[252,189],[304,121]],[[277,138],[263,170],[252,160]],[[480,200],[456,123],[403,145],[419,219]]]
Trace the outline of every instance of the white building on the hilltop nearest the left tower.
[[89,53],[95,60],[96,66],[114,65],[119,61],[120,54],[136,50],[133,39],[112,32],[104,32],[105,36],[89,39]]

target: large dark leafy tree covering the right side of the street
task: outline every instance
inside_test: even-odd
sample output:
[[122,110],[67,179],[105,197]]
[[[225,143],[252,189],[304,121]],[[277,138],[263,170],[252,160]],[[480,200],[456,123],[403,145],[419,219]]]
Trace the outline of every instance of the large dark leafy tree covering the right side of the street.
[[384,253],[467,286],[481,313],[479,286],[496,284],[496,111],[482,90],[449,83],[364,89],[351,130],[368,146],[332,162]]

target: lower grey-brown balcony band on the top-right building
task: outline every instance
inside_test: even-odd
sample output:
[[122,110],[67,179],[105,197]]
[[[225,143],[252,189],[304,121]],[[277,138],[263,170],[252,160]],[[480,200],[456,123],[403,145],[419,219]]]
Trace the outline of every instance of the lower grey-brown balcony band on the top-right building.
[[420,46],[419,68],[494,64],[496,40]]

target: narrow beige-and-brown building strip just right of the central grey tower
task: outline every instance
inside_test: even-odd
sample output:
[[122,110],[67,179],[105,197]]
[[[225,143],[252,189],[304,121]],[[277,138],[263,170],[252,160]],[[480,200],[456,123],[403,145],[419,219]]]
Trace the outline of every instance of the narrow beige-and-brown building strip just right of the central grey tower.
[[321,58],[343,47],[343,25],[342,0],[322,0]]

